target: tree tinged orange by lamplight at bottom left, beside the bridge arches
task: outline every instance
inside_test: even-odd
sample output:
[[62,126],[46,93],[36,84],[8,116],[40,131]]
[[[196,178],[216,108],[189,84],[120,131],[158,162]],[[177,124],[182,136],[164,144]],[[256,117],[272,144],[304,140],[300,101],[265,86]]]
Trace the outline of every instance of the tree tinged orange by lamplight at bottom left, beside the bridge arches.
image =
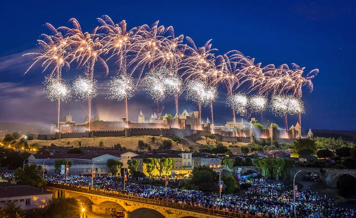
[[76,198],[54,198],[45,207],[46,218],[80,218],[81,206]]

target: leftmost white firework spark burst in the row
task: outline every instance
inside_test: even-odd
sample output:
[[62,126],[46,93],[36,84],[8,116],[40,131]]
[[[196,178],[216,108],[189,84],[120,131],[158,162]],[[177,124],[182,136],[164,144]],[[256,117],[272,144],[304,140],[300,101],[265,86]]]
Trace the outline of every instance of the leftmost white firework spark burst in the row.
[[51,101],[67,101],[71,98],[70,87],[63,79],[46,78],[44,83],[47,98]]

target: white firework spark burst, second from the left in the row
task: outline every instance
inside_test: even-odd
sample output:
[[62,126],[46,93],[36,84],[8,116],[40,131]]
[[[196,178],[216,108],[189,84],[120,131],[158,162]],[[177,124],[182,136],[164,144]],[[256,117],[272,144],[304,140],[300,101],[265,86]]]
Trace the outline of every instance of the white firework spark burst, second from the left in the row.
[[97,96],[97,80],[79,76],[73,82],[73,92],[79,99],[93,99]]

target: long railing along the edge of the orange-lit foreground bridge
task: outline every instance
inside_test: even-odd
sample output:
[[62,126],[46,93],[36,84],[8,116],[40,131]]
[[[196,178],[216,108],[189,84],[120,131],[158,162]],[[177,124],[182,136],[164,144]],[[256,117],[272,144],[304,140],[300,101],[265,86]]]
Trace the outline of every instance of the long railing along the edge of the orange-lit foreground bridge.
[[163,201],[163,200],[140,198],[140,197],[117,194],[117,193],[102,192],[102,191],[79,188],[79,187],[73,187],[73,186],[68,186],[68,185],[49,184],[47,186],[48,187],[54,187],[54,188],[67,189],[67,190],[72,190],[72,191],[78,191],[78,192],[83,192],[83,193],[89,193],[89,194],[96,194],[96,195],[109,196],[109,197],[114,197],[114,198],[122,198],[122,199],[134,200],[134,201],[138,201],[138,202],[156,204],[156,205],[160,205],[160,206],[166,206],[166,207],[177,208],[177,209],[182,209],[182,210],[189,210],[189,211],[200,212],[200,213],[205,213],[205,214],[218,215],[218,216],[223,216],[223,217],[262,218],[262,217],[254,216],[254,215],[240,214],[240,213],[235,213],[235,212],[230,212],[230,211],[223,211],[223,210],[216,210],[216,209],[205,208],[205,207],[197,207],[197,206],[173,203],[173,202],[168,202],[168,201]]

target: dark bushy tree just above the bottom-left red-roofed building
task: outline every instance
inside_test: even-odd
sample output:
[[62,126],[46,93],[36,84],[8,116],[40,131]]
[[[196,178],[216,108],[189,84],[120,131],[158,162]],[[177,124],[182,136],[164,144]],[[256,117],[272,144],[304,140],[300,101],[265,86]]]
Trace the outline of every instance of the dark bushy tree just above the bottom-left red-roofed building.
[[44,187],[47,182],[39,176],[40,174],[42,174],[42,167],[40,165],[26,164],[24,169],[21,167],[17,168],[14,176],[18,184]]

